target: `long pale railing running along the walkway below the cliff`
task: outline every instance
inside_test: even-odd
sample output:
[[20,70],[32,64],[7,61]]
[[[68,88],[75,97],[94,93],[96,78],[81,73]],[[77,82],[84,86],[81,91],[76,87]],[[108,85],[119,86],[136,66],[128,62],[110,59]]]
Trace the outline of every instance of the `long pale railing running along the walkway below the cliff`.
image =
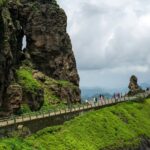
[[56,116],[60,114],[66,114],[70,112],[75,112],[75,111],[83,111],[86,109],[92,109],[96,107],[102,107],[102,106],[107,106],[107,105],[113,105],[116,103],[124,102],[124,101],[133,101],[133,100],[140,100],[142,98],[146,98],[150,94],[150,91],[144,92],[137,94],[135,96],[124,96],[118,99],[106,99],[104,101],[98,101],[97,103],[92,104],[84,104],[84,105],[72,105],[71,107],[65,107],[64,109],[56,109],[56,110],[46,110],[46,111],[38,111],[38,112],[32,112],[32,113],[27,113],[27,114],[22,114],[22,115],[12,115],[10,117],[3,117],[0,118],[0,127],[2,126],[7,126],[10,124],[15,124],[15,123],[21,123],[24,121],[29,121],[29,120],[34,120],[34,119],[41,119],[45,117],[50,117],[50,116]]

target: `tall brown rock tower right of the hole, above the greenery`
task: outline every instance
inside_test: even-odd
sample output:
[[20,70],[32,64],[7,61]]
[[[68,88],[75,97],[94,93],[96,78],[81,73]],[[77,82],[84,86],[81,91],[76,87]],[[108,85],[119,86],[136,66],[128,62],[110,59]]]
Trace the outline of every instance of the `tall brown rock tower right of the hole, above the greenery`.
[[20,18],[27,38],[26,50],[36,69],[54,79],[79,85],[72,45],[66,33],[65,12],[50,1],[22,4]]

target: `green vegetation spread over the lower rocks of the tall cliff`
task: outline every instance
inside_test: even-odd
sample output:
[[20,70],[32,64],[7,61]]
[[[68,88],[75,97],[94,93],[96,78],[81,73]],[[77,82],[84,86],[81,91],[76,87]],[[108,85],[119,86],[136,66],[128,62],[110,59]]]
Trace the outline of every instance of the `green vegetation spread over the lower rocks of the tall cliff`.
[[[50,109],[62,109],[66,107],[64,104],[65,100],[62,100],[60,97],[52,91],[51,87],[63,87],[71,88],[74,90],[76,87],[73,83],[64,80],[54,80],[44,74],[39,72],[39,75],[42,76],[44,81],[37,80],[33,77],[32,64],[28,61],[23,62],[22,66],[16,71],[18,83],[23,87],[25,92],[30,92],[32,94],[37,94],[39,89],[44,90],[44,104],[41,107],[41,111],[47,111]],[[30,109],[26,105],[22,105],[20,113],[30,113]]]

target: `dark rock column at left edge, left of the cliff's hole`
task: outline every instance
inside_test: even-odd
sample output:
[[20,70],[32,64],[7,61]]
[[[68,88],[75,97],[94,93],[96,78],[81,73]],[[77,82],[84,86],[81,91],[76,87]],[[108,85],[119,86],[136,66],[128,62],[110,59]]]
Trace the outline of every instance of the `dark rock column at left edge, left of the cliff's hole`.
[[16,24],[17,21],[12,17],[9,7],[0,7],[0,107],[2,109],[9,105],[7,91],[10,90],[9,85],[14,80],[14,66],[18,60],[16,37],[19,32]]

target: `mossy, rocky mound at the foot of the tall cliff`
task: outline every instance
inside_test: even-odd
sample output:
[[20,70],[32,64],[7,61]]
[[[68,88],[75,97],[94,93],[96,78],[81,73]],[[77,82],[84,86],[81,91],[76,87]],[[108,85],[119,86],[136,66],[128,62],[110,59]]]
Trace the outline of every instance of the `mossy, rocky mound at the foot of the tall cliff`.
[[26,64],[16,71],[16,76],[17,83],[23,89],[22,106],[27,104],[32,111],[65,107],[68,103],[80,102],[80,90],[69,81],[55,80]]

